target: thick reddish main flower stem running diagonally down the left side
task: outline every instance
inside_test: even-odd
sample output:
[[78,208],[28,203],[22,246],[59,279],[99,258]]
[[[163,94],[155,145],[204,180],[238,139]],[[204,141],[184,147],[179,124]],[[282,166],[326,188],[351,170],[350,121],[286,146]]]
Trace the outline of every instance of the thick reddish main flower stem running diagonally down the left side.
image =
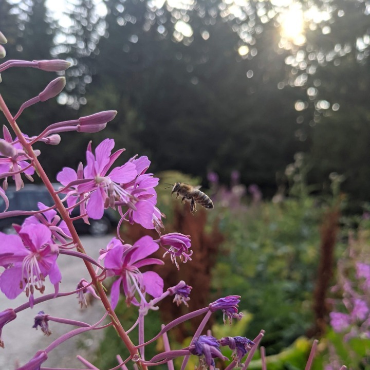
[[[85,249],[83,248],[83,245],[82,245],[81,240],[80,240],[80,238],[77,234],[77,231],[76,231],[75,227],[72,224],[72,220],[69,217],[68,211],[65,209],[65,207],[64,207],[61,199],[57,195],[57,193],[55,193],[54,188],[53,188],[48,176],[46,175],[42,165],[40,164],[38,158],[36,157],[36,155],[33,152],[32,145],[30,143],[28,143],[28,141],[24,138],[24,136],[22,134],[22,131],[20,130],[17,123],[13,119],[13,116],[9,112],[9,109],[8,109],[7,105],[5,104],[4,99],[1,96],[1,94],[0,94],[0,109],[3,111],[6,119],[8,120],[8,122],[9,122],[10,126],[12,127],[14,133],[16,134],[18,140],[20,141],[20,143],[24,147],[24,150],[26,151],[26,153],[32,159],[36,172],[39,174],[42,181],[44,182],[47,190],[49,191],[50,195],[52,196],[52,198],[54,200],[55,205],[57,206],[57,209],[58,209],[59,213],[61,214],[62,218],[64,219],[65,223],[67,224],[68,230],[70,231],[71,236],[73,238],[73,241],[76,244],[77,250],[80,253],[87,254],[85,252]],[[127,336],[127,334],[126,334],[125,330],[123,329],[119,319],[116,316],[115,311],[110,306],[109,300],[108,300],[108,298],[105,294],[105,291],[103,289],[103,285],[97,279],[97,276],[95,274],[95,270],[94,270],[93,265],[90,262],[86,261],[86,260],[84,260],[84,263],[85,263],[85,266],[86,266],[86,268],[87,268],[87,270],[88,270],[88,272],[91,276],[91,280],[93,281],[93,284],[94,284],[94,286],[96,287],[96,289],[99,293],[101,301],[102,301],[105,309],[107,310],[107,312],[109,314],[110,320],[112,321],[113,325],[115,326],[115,328],[117,330],[118,335],[121,337],[122,341],[126,345],[128,351],[130,352],[130,355],[138,357],[139,356],[138,350],[137,350],[137,348],[135,348],[135,345],[131,341],[130,337]],[[146,369],[145,365],[143,365],[143,367]]]

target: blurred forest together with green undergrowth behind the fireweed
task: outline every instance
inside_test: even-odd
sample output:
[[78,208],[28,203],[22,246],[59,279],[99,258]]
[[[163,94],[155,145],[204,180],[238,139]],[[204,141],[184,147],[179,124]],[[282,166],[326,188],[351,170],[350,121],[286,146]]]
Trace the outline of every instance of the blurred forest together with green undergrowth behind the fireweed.
[[[106,137],[126,148],[122,160],[149,156],[161,179],[166,231],[181,226],[194,248],[205,246],[201,256],[212,254],[197,269],[210,279],[198,295],[208,302],[242,295],[248,320],[238,335],[252,339],[266,330],[269,370],[303,368],[312,337],[321,339],[315,368],[370,368],[368,339],[344,340],[330,329],[332,307],[319,299],[320,292],[330,295],[348,231],[369,228],[369,13],[365,0],[0,2],[8,59],[72,63],[57,101],[18,119],[25,133],[118,110],[97,135],[63,134],[63,155],[43,145],[46,171],[52,177],[77,167],[89,140]],[[49,79],[38,70],[4,72],[0,90],[11,112]],[[190,216],[188,205],[162,190],[176,181],[210,188],[215,209]],[[123,232],[130,241],[142,231]],[[330,263],[320,272],[328,250]],[[165,273],[169,284],[174,272]],[[167,313],[164,320],[176,314]],[[130,311],[119,314],[130,322]],[[153,315],[148,336],[159,330],[159,313]],[[219,322],[211,323],[214,332]],[[190,332],[181,328],[173,343],[189,343]],[[115,366],[106,354],[114,357],[119,345],[109,332],[97,366]]]

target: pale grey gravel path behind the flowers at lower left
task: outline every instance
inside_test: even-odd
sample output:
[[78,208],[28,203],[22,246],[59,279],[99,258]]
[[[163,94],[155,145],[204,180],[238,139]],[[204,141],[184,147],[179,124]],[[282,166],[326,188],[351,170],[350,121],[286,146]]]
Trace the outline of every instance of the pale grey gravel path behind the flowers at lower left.
[[[99,248],[104,248],[112,237],[113,235],[102,237],[82,236],[81,240],[87,253],[96,258],[99,255]],[[58,265],[62,272],[60,292],[75,290],[79,280],[82,278],[89,280],[84,263],[79,258],[60,255],[58,257]],[[51,293],[52,291],[52,286],[48,285],[45,293]],[[35,297],[40,297],[40,295],[35,294]],[[25,302],[27,302],[27,299],[24,294],[10,301],[0,292],[0,312],[6,308],[17,307]],[[27,309],[18,313],[17,318],[6,324],[2,332],[5,349],[0,348],[0,369],[14,370],[17,366],[24,365],[39,349],[46,348],[59,336],[76,328],[49,322],[52,335],[46,337],[40,329],[35,330],[32,328],[33,318],[39,311],[43,310],[50,316],[93,324],[102,317],[104,312],[99,302],[94,303],[94,305],[86,309],[81,309],[77,295],[73,294],[68,297],[40,303],[34,306],[32,310]],[[85,356],[93,352],[102,334],[102,332],[93,331],[67,340],[49,353],[48,360],[43,366],[83,368],[82,363],[76,359],[76,355]]]

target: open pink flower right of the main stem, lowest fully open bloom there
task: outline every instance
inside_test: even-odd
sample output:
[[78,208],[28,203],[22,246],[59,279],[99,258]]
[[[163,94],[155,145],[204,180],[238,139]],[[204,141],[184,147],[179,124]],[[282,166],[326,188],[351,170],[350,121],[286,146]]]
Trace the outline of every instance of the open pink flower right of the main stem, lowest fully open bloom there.
[[136,306],[139,305],[135,298],[136,292],[141,298],[143,298],[143,292],[154,298],[160,297],[163,292],[162,278],[156,272],[142,273],[139,270],[140,267],[147,265],[163,265],[163,261],[157,258],[145,258],[158,248],[152,237],[143,236],[133,246],[118,245],[107,252],[104,260],[107,276],[119,276],[119,279],[113,283],[110,293],[113,308],[117,306],[121,284],[127,305],[131,302]]

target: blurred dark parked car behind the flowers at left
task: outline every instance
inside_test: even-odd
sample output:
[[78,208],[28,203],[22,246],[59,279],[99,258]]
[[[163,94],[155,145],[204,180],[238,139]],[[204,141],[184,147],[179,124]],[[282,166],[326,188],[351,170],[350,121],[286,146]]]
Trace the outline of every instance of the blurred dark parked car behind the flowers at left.
[[[38,202],[42,202],[47,207],[53,205],[51,195],[42,185],[27,184],[20,191],[15,191],[14,187],[9,186],[6,191],[9,199],[8,211],[36,211],[38,210]],[[4,212],[5,202],[0,197],[0,212]],[[72,211],[72,217],[79,214],[79,208]],[[14,233],[12,224],[21,225],[24,219],[28,216],[14,216],[0,219],[0,231],[11,234]],[[89,233],[91,235],[105,235],[114,227],[117,227],[117,217],[113,210],[104,210],[104,216],[100,220],[89,219],[90,225],[84,223],[82,219],[73,221],[78,233]]]

